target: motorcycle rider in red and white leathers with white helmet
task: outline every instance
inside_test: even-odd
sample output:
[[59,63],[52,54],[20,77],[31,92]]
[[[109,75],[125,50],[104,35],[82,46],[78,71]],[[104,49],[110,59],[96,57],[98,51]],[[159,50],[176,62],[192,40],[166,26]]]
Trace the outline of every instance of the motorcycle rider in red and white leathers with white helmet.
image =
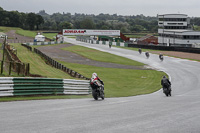
[[92,78],[90,79],[90,86],[96,89],[101,84],[104,85],[103,81],[97,76],[97,73],[93,73]]

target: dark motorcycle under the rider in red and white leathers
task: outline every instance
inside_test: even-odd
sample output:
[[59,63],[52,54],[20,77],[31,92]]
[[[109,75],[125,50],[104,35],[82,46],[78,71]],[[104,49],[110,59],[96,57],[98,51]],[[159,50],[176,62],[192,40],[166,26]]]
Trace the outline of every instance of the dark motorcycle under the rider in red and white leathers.
[[92,88],[92,96],[95,100],[98,100],[98,98],[101,98],[104,100],[104,83],[95,82],[93,85],[91,85]]

